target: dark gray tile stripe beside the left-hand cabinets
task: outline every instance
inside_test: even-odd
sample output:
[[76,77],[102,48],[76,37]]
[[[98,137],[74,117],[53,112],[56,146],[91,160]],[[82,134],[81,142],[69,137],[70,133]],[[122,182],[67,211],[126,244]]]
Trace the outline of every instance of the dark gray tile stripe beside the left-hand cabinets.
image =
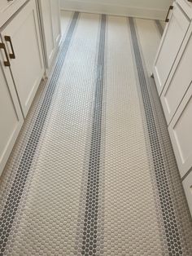
[[63,67],[63,62],[67,55],[73,32],[76,28],[78,16],[79,12],[75,12],[72,17],[66,38],[64,38],[62,42],[59,59],[55,65],[54,72],[52,73],[49,84],[47,86],[46,95],[41,104],[41,108],[39,109],[37,119],[34,122],[33,130],[28,138],[23,156],[21,157],[20,166],[16,171],[14,182],[12,183],[11,190],[7,196],[6,205],[2,210],[2,215],[0,218],[0,255],[3,255],[3,252],[7,246],[7,241],[11,232],[12,224],[14,223],[15,214],[20,205],[21,196],[24,192],[24,186],[26,180],[28,179],[28,173],[33,162],[33,157],[37,149],[38,141],[41,137],[41,131],[43,130],[43,126],[46,121],[50,103],[55,92],[55,87],[57,86],[57,82],[59,80],[59,73]]

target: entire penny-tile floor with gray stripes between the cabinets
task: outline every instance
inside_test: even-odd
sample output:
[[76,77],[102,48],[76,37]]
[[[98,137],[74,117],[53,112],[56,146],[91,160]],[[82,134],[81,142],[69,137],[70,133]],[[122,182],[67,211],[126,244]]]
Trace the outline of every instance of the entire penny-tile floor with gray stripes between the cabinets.
[[152,62],[162,24],[63,11],[0,183],[0,255],[192,255]]

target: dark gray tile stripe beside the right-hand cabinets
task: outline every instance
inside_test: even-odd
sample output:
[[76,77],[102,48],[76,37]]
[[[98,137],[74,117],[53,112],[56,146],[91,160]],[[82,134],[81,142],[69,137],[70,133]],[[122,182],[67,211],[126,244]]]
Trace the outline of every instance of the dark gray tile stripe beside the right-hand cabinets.
[[173,209],[172,197],[169,190],[166,169],[164,166],[164,157],[159,143],[155,117],[152,110],[149,91],[147,88],[147,78],[142,64],[142,55],[138,44],[133,18],[129,18],[129,25],[133,42],[134,57],[137,65],[137,75],[142,92],[144,112],[146,115],[146,126],[151,145],[151,155],[154,164],[156,186],[159,194],[161,214],[164,221],[164,232],[166,234],[168,251],[169,255],[181,255],[183,254],[181,248],[181,237],[178,232],[178,223]]

